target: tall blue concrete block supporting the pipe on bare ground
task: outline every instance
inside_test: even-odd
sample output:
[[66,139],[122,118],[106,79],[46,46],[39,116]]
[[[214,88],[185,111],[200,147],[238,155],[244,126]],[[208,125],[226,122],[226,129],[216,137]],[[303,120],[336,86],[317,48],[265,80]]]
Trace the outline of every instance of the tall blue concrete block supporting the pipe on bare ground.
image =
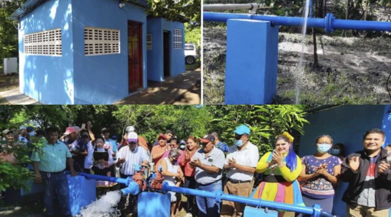
[[225,104],[266,104],[277,92],[278,26],[227,20]]

